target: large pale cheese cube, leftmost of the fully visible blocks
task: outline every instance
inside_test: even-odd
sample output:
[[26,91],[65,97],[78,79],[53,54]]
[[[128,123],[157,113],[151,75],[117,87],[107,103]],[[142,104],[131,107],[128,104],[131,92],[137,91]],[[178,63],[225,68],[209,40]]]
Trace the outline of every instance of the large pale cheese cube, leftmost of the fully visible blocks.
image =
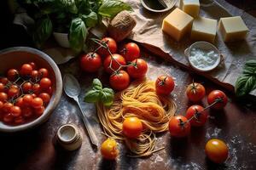
[[165,31],[178,42],[191,31],[192,22],[193,18],[189,14],[176,8],[163,20],[162,31]]

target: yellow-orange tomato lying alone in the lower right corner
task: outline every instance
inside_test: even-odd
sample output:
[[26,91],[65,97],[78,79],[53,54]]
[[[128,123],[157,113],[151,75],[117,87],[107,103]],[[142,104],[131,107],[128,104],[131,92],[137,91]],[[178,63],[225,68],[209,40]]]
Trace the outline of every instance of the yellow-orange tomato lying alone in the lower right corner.
[[227,144],[220,139],[210,139],[205,148],[207,157],[215,163],[223,163],[229,156]]

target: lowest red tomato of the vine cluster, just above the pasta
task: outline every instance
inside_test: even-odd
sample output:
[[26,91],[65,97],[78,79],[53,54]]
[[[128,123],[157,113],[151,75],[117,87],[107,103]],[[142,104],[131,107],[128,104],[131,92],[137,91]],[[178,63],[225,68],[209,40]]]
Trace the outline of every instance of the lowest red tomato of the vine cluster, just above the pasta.
[[130,84],[130,77],[126,71],[118,71],[109,77],[110,86],[115,90],[123,90]]

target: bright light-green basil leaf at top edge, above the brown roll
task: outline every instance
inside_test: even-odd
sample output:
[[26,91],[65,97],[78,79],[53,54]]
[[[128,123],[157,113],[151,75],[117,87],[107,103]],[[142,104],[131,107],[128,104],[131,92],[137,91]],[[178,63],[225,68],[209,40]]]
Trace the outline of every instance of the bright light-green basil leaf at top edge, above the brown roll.
[[131,6],[119,0],[103,0],[101,7],[98,9],[98,14],[113,18],[122,10],[132,10]]

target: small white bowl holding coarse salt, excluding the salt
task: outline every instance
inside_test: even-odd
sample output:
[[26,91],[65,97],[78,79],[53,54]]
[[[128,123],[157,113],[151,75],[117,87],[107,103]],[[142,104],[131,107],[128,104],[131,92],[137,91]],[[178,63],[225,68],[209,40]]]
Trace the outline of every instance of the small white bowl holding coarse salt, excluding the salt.
[[[190,52],[191,52],[192,48],[199,48],[199,49],[206,50],[206,51],[213,51],[215,54],[218,54],[218,59],[216,60],[216,62],[212,66],[209,66],[209,67],[204,68],[204,69],[199,68],[196,65],[194,65],[193,62],[190,59]],[[201,72],[207,72],[207,71],[214,70],[220,64],[220,62],[222,61],[222,55],[218,51],[218,48],[216,48],[214,45],[212,45],[212,43],[209,43],[209,42],[195,42],[192,45],[190,45],[189,48],[185,49],[184,54],[188,57],[189,64],[196,71],[201,71]]]

